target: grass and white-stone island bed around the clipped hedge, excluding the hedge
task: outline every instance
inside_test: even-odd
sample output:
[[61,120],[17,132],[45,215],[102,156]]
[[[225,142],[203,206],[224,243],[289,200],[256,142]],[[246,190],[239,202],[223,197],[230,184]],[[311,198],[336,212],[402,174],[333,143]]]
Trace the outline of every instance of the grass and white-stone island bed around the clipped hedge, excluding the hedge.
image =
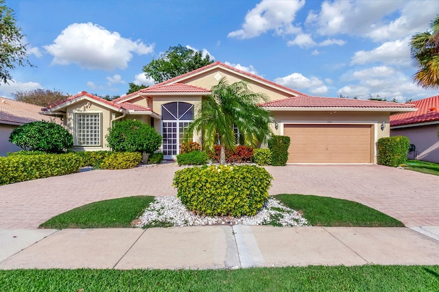
[[[180,199],[166,198],[157,197],[154,201],[154,197],[139,196],[94,202],[57,215],[41,224],[40,228],[129,228],[135,224],[151,228],[217,223],[272,226],[403,226],[400,221],[368,206],[331,197],[276,195],[270,198],[277,199],[281,206],[269,205],[270,210],[263,210],[254,217],[215,217],[217,221],[214,217],[201,217],[196,221],[193,219],[195,215],[185,209]],[[167,203],[158,204],[163,200]],[[150,206],[154,208],[148,208]],[[139,219],[141,216],[143,218]],[[150,221],[147,220],[148,216]],[[262,219],[257,221],[259,216]],[[142,224],[142,220],[145,223]]]

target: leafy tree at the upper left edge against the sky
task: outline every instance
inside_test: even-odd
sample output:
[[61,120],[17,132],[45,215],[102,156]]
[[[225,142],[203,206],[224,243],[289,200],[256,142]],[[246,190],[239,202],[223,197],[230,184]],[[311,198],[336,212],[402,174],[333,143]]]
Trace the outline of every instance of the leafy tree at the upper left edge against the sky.
[[23,38],[21,28],[16,26],[13,10],[5,6],[4,0],[0,0],[0,83],[7,84],[12,80],[10,70],[17,65],[32,66],[27,60]]

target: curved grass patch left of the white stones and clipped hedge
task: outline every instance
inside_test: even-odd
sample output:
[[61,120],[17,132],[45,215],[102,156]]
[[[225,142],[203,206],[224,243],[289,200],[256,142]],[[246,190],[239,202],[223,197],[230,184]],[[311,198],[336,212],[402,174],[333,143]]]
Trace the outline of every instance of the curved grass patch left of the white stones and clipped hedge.
[[40,228],[126,228],[154,201],[151,196],[122,197],[80,206],[57,215]]

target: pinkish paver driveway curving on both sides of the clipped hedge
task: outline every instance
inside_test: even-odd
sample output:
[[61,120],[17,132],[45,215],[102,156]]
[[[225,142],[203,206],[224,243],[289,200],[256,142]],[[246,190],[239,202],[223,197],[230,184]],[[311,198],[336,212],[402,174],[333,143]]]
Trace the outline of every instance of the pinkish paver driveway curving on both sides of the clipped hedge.
[[[98,170],[0,186],[0,229],[38,228],[72,208],[131,195],[176,195],[175,163]],[[380,165],[266,167],[270,195],[298,193],[351,199],[412,226],[439,226],[439,176]]]

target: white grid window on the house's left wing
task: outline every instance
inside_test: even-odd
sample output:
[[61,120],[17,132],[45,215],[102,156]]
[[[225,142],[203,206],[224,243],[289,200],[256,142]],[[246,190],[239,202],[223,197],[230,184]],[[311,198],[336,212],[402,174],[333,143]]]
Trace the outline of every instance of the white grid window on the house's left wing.
[[78,146],[101,145],[101,114],[76,114],[76,139]]

